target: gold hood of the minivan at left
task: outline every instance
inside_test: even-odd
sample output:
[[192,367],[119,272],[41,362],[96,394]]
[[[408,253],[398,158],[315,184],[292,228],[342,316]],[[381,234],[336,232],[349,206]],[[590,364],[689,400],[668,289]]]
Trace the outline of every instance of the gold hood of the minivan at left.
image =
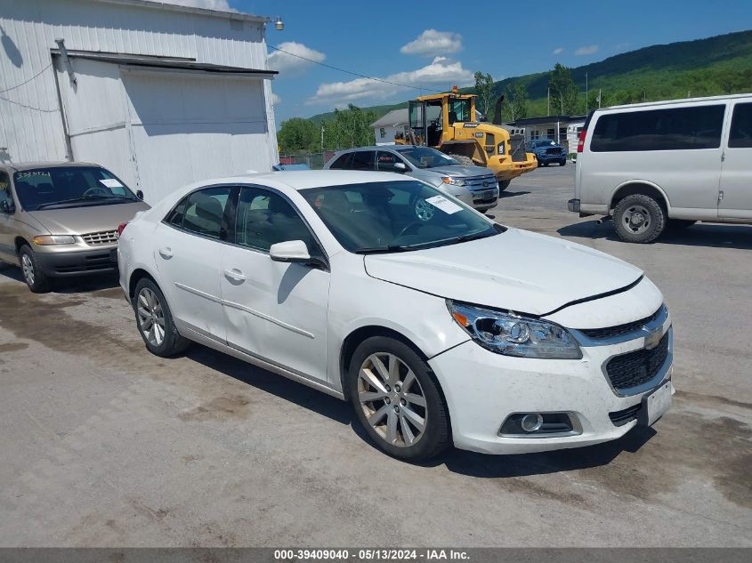
[[105,230],[133,219],[133,215],[146,211],[149,205],[142,201],[113,205],[85,205],[67,209],[40,209],[28,214],[53,235],[84,235]]

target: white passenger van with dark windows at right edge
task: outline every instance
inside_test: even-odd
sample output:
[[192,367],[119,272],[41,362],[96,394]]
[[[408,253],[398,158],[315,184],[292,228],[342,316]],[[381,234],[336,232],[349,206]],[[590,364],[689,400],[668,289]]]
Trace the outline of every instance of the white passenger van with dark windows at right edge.
[[752,223],[752,94],[596,109],[577,151],[569,210],[612,216],[621,240]]

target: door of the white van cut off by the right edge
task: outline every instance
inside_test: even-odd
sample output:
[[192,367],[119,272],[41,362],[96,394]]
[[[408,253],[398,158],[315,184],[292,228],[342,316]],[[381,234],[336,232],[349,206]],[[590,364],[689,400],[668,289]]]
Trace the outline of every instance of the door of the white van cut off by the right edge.
[[724,146],[718,217],[752,219],[752,101],[731,106]]

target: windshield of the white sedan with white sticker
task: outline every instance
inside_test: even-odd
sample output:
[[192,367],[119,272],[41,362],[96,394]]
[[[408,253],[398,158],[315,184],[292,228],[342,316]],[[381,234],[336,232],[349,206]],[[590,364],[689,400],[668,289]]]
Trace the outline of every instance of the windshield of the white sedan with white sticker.
[[452,245],[505,230],[420,181],[376,181],[300,193],[352,253]]

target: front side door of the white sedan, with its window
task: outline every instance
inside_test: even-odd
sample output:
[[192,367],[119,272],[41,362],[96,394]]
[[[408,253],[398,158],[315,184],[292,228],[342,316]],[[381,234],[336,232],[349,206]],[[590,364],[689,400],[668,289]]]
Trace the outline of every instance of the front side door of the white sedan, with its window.
[[235,245],[222,246],[228,344],[327,382],[329,272],[269,256],[275,243],[303,240],[311,256],[323,257],[318,242],[293,205],[270,190],[243,188],[236,218]]

